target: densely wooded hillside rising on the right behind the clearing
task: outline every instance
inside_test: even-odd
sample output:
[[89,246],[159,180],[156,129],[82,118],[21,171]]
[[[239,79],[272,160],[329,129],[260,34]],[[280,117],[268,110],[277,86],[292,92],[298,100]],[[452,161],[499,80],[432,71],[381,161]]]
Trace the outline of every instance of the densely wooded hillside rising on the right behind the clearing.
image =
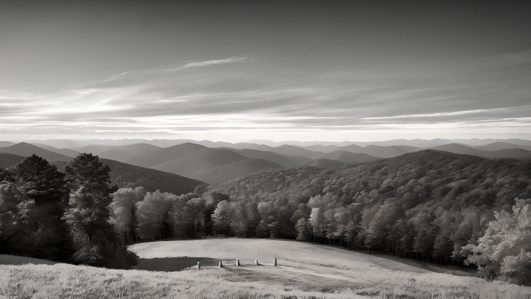
[[460,248],[477,244],[495,211],[511,211],[516,198],[531,198],[530,178],[529,160],[424,150],[337,171],[284,168],[224,182],[211,191],[227,194],[230,201],[213,218],[242,234],[230,223],[241,222],[252,204],[260,219],[249,220],[259,225],[248,234],[315,237],[463,264]]

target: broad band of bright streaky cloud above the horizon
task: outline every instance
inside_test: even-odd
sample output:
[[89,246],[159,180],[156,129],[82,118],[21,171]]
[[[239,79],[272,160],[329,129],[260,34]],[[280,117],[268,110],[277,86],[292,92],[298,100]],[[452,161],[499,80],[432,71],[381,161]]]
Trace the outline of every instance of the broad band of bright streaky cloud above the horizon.
[[523,72],[525,65],[429,76],[364,76],[348,70],[304,74],[267,68],[260,61],[238,68],[193,68],[243,61],[190,62],[179,72],[167,72],[169,67],[132,71],[55,92],[4,90],[0,134],[61,136],[68,130],[78,137],[313,140],[311,136],[348,140],[367,132],[531,134],[531,80]]

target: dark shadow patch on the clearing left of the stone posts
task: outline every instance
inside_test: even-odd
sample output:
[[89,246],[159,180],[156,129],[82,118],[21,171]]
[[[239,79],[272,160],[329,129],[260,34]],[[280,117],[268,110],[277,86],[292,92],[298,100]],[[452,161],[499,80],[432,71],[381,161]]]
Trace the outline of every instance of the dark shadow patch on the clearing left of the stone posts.
[[219,260],[212,258],[192,258],[184,256],[182,258],[153,258],[153,259],[138,259],[138,264],[133,267],[136,270],[149,271],[181,271],[185,268],[201,263],[201,267],[217,266]]

